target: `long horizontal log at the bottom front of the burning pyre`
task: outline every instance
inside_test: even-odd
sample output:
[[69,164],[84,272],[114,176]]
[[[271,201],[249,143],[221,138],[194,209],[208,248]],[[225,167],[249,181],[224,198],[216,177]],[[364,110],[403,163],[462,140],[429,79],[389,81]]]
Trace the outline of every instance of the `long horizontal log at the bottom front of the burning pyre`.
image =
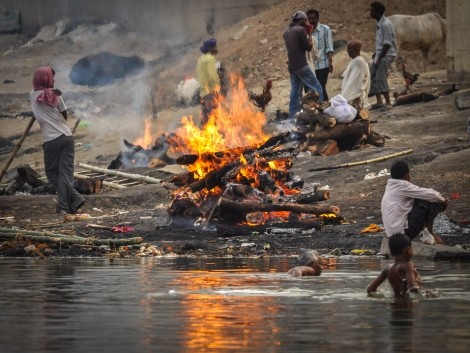
[[220,201],[221,213],[226,209],[227,211],[236,212],[274,212],[274,211],[291,211],[296,213],[307,213],[307,214],[325,214],[334,213],[339,215],[340,210],[338,206],[331,205],[303,205],[295,203],[260,203],[260,202],[237,202],[227,198],[221,198]]

